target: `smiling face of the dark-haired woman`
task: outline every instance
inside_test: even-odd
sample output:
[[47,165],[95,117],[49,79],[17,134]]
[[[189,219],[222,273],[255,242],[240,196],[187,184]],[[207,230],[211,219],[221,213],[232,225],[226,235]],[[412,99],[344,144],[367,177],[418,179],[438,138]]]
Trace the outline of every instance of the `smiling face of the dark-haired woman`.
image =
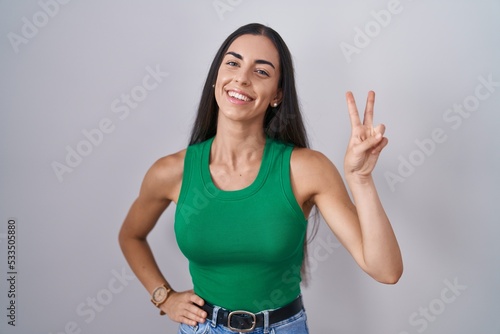
[[219,117],[263,121],[269,105],[280,103],[279,54],[265,36],[242,35],[229,46],[217,74]]

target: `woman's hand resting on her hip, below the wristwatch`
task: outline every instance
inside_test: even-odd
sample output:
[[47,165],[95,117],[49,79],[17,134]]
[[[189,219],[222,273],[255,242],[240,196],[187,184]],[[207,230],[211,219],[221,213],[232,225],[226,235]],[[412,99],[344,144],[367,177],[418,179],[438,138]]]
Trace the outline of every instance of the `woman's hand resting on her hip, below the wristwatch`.
[[205,301],[196,295],[193,290],[172,291],[170,293],[171,295],[167,298],[167,301],[160,305],[160,309],[170,319],[189,326],[196,326],[198,323],[205,322],[207,312],[201,309]]

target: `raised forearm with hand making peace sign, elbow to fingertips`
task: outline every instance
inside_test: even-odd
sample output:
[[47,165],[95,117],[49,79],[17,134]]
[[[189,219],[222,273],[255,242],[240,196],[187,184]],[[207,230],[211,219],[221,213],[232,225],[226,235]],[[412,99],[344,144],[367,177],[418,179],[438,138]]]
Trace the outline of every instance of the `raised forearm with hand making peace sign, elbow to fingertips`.
[[344,173],[363,235],[363,257],[372,276],[395,283],[403,272],[403,260],[396,236],[377,194],[372,171],[387,145],[385,126],[373,126],[375,93],[369,92],[361,123],[352,93],[346,94],[351,120],[351,138],[344,159]]

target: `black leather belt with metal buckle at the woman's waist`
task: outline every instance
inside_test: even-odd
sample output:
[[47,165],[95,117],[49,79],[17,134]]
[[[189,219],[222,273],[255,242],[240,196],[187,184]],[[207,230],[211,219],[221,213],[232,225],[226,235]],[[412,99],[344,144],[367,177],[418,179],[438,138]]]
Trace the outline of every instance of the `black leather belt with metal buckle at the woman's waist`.
[[[285,305],[279,309],[269,311],[269,325],[278,323],[285,319],[294,316],[304,308],[302,304],[302,297],[297,297],[293,302]],[[214,306],[205,303],[202,309],[208,313],[207,320],[213,318]],[[248,311],[228,311],[226,309],[219,309],[217,312],[216,324],[224,325],[230,330],[238,331],[240,333],[250,332],[255,328],[264,327],[264,314],[252,313]]]

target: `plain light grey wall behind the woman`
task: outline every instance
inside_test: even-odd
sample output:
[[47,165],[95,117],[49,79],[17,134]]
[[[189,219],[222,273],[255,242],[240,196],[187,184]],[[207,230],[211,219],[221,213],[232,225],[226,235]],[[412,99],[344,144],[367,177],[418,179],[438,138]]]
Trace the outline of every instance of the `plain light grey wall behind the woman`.
[[[176,332],[132,278],[118,230],[149,166],[186,146],[222,41],[260,22],[294,56],[314,149],[342,167],[347,90],[360,109],[376,91],[390,142],[374,176],[404,275],[395,286],[373,281],[322,223],[303,289],[311,333],[500,333],[499,15],[498,0],[0,1],[0,332]],[[139,96],[147,68],[163,77]],[[141,101],[124,114],[120,99],[131,93]],[[85,146],[83,132],[101,122],[109,133]],[[68,149],[78,147],[87,155],[70,167]],[[58,163],[67,166],[59,177]],[[174,209],[150,241],[181,290],[191,283]],[[9,218],[18,227],[15,327]]]

